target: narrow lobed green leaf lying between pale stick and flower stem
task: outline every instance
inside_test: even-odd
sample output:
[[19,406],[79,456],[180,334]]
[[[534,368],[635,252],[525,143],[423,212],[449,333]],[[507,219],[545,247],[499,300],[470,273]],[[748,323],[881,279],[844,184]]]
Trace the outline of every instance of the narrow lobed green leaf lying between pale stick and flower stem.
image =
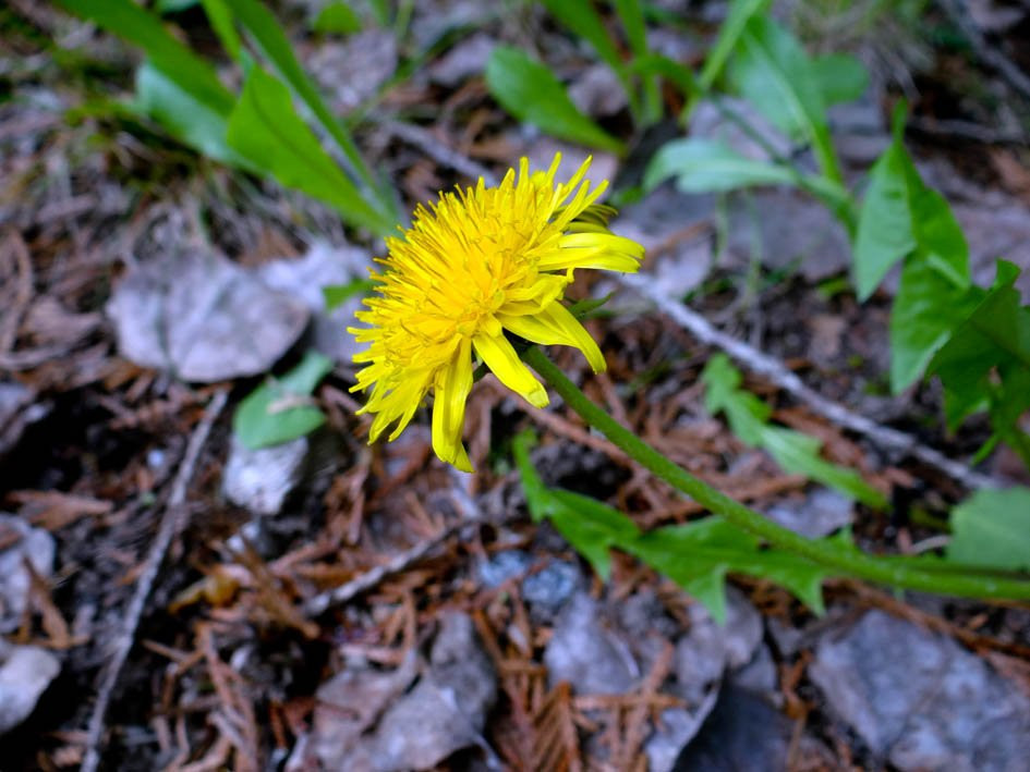
[[729,357],[716,354],[701,373],[705,385],[704,405],[708,413],[725,413],[732,432],[742,442],[766,451],[786,471],[804,475],[876,508],[886,498],[853,469],[831,464],[819,455],[822,443],[768,422],[772,408],[754,394],[740,389],[740,372]]

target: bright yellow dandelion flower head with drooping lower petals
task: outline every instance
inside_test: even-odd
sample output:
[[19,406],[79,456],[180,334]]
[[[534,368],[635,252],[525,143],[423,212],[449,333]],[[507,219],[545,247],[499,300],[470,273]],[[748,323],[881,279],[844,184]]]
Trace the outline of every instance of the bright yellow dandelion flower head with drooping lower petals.
[[587,159],[565,184],[555,184],[560,156],[546,172],[509,170],[497,187],[480,179],[475,188],[440,195],[415,209],[401,237],[387,238],[388,256],[372,271],[378,296],[349,328],[369,343],[354,356],[367,363],[356,390],[372,389],[361,413],[373,413],[374,442],[396,424],[396,439],[423,399],[434,392],[433,450],[459,469],[472,470],[461,444],[465,399],[472,389],[472,355],[501,383],[543,407],[547,392],[522,364],[508,330],[528,341],[575,346],[595,372],[605,369],[597,344],[561,304],[574,268],[635,271],[643,247],[613,234],[610,207],[595,204],[584,181]]

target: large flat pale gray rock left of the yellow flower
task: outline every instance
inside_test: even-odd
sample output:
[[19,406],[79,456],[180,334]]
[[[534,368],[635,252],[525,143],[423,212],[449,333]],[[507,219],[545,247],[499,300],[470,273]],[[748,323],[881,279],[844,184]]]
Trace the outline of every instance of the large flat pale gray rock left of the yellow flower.
[[107,305],[122,356],[209,383],[266,372],[307,309],[215,254],[168,250],[133,267]]

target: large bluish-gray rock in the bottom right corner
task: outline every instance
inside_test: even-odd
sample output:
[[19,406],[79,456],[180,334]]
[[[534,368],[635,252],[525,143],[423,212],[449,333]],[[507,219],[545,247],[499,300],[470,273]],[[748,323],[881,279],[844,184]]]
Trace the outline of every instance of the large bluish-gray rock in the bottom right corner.
[[809,674],[872,752],[900,770],[1026,769],[1030,698],[950,638],[870,611],[823,636]]

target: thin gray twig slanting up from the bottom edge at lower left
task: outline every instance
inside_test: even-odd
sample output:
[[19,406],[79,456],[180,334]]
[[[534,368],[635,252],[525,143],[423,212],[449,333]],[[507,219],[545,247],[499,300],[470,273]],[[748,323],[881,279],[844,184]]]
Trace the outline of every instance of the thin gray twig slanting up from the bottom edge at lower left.
[[111,702],[111,696],[118,684],[118,676],[121,674],[125,660],[132,645],[135,642],[136,628],[140,626],[140,618],[143,616],[143,610],[147,597],[157,578],[157,572],[165,560],[165,553],[168,546],[186,524],[186,489],[190,480],[193,478],[193,471],[199,458],[204,443],[211,431],[211,427],[226,406],[229,395],[228,389],[218,391],[207,405],[204,416],[193,430],[190,437],[190,443],[183,454],[182,463],[179,465],[179,471],[172,481],[171,494],[168,498],[168,505],[161,516],[161,524],[147,552],[143,564],[143,571],[140,572],[140,578],[136,580],[136,591],[133,593],[129,605],[125,609],[124,623],[121,633],[114,640],[113,650],[108,661],[107,669],[100,681],[100,687],[97,690],[97,701],[93,707],[93,713],[89,716],[89,724],[86,728],[86,752],[83,756],[80,772],[96,772],[100,763],[100,735],[104,734],[104,720],[107,714],[108,706]]

